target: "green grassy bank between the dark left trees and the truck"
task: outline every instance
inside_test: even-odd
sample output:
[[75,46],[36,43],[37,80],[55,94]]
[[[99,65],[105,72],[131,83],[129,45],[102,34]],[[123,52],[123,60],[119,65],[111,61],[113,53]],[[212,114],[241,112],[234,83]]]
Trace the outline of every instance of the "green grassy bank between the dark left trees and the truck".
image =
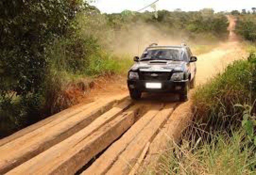
[[[44,84],[44,111],[48,115],[77,103],[68,96],[67,90],[71,85],[78,86],[81,79],[93,79],[104,74],[125,75],[132,65],[131,57],[116,56],[91,37],[77,37],[79,44],[76,37],[71,38],[56,40],[48,49],[49,69]],[[74,47],[74,50],[67,47]]]

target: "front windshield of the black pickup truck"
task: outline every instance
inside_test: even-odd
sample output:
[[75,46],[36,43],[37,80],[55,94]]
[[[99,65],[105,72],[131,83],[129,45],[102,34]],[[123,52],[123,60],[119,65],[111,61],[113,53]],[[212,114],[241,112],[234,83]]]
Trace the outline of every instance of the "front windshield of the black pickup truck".
[[149,49],[145,50],[140,61],[145,60],[173,60],[181,61],[179,49]]

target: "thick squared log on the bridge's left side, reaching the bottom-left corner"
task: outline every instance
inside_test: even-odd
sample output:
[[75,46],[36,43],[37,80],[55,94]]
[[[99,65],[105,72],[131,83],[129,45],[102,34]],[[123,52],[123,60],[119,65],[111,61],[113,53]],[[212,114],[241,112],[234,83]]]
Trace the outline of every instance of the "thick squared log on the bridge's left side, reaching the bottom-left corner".
[[[22,164],[51,146],[63,141],[108,111],[116,100],[98,102],[71,117],[58,118],[18,139],[0,147],[0,174]],[[125,106],[126,105],[126,106]],[[116,110],[121,112],[129,104],[121,103]],[[123,107],[123,109],[121,109]]]

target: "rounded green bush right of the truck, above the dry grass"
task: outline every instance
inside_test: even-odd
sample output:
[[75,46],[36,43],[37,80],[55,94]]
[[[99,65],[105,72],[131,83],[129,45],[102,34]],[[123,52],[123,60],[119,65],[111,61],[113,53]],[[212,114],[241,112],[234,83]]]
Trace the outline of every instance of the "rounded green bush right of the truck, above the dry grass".
[[255,60],[255,55],[251,55],[248,61],[235,61],[223,74],[199,87],[193,95],[195,120],[208,122],[206,128],[213,130],[240,126],[242,110],[234,105],[252,105],[256,98]]

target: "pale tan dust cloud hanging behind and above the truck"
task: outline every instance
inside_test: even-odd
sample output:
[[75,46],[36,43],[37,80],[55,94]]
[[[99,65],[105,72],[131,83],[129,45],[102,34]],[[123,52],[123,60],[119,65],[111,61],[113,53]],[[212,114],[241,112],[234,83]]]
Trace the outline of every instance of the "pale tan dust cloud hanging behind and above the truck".
[[[160,24],[159,24],[160,25]],[[191,33],[174,30],[168,26],[149,25],[145,23],[136,23],[125,29],[114,32],[114,40],[109,44],[109,48],[116,55],[140,56],[146,47],[152,43],[158,45],[214,45],[219,39],[214,41],[212,34]]]

